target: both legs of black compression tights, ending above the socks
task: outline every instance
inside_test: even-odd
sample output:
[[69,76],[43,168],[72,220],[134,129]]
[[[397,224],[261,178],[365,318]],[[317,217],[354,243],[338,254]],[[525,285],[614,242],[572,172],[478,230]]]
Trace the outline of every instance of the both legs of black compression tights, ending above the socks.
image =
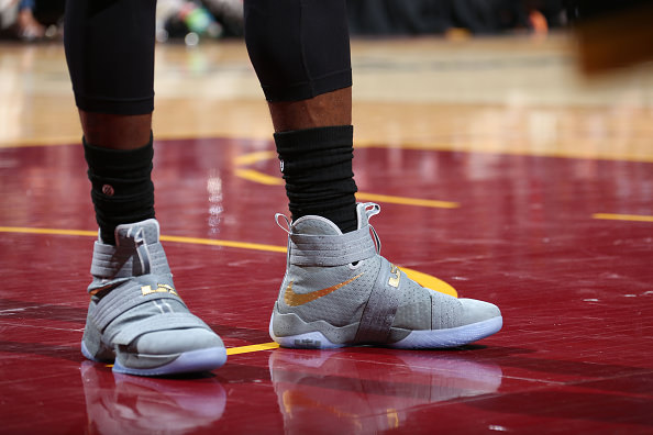
[[[247,49],[269,101],[352,85],[345,0],[245,0]],[[67,0],[65,47],[79,109],[154,108],[156,0]]]

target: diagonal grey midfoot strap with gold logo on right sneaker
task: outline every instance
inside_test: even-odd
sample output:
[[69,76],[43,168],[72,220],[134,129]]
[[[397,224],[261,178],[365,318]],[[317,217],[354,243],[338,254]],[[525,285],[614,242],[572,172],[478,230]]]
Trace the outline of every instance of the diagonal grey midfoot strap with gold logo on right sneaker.
[[354,343],[385,344],[399,306],[399,294],[407,282],[406,275],[384,257],[380,270],[363,310]]

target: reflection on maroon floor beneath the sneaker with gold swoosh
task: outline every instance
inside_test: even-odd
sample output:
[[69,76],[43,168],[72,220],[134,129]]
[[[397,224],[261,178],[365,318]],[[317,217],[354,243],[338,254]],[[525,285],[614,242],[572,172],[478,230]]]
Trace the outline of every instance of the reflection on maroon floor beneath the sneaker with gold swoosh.
[[[376,434],[411,409],[496,392],[501,369],[453,353],[276,349],[268,365],[286,434]],[[368,360],[365,360],[367,357]]]

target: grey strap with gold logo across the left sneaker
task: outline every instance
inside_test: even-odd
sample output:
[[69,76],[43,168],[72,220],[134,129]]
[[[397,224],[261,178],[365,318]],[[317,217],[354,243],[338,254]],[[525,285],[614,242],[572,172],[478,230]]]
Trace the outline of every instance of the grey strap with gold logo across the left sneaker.
[[125,311],[159,299],[174,299],[186,306],[173,287],[170,275],[133,277],[128,282],[112,289],[89,309],[89,316],[98,330],[103,331]]

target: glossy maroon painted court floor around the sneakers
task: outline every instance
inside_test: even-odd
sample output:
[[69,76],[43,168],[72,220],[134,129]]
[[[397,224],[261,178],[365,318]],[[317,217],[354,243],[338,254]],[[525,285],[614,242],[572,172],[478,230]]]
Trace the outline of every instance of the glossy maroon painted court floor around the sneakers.
[[[165,243],[180,294],[228,347],[269,343],[286,198],[241,172],[277,177],[274,154],[239,156],[273,144],[156,149],[163,234],[192,237]],[[653,433],[653,222],[613,219],[653,215],[653,164],[379,146],[355,170],[362,193],[391,199],[372,221],[383,254],[497,303],[503,330],[452,350],[246,352],[151,379],[79,352],[93,241],[79,231],[96,231],[81,147],[0,149],[0,433]]]

